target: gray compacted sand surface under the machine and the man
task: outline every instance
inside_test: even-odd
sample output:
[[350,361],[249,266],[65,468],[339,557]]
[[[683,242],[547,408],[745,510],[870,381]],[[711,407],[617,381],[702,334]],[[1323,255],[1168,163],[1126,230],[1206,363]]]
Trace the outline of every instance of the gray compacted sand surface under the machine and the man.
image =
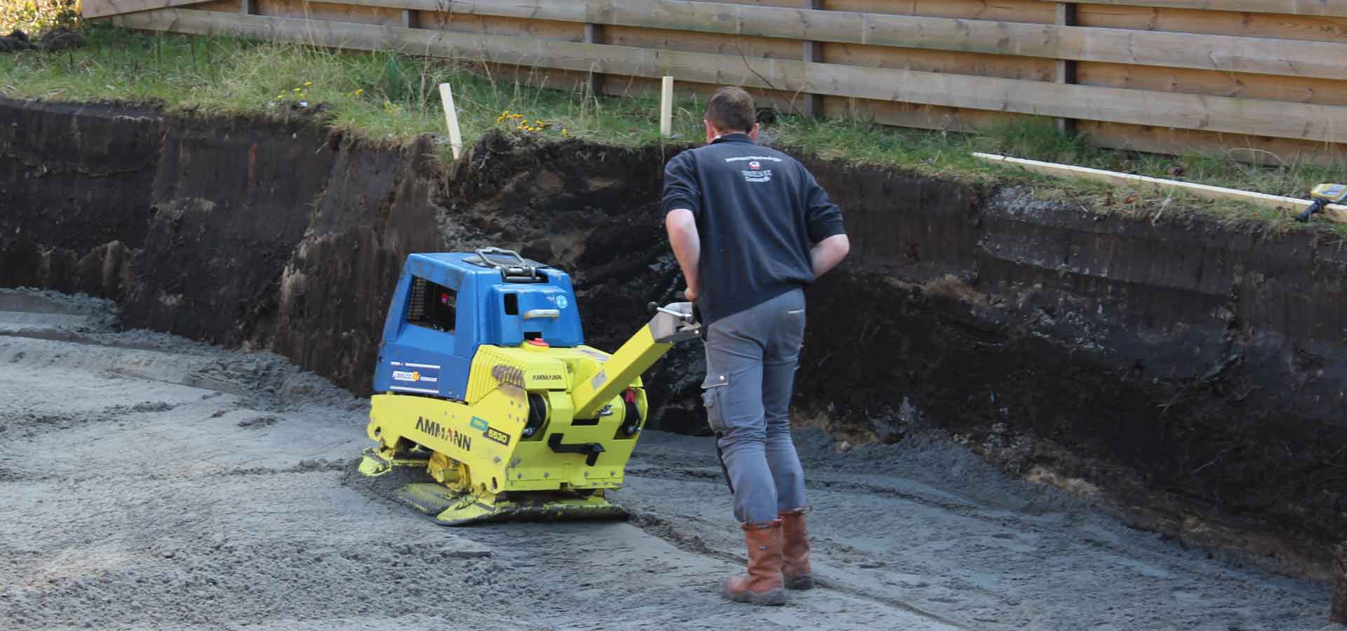
[[1321,628],[1328,588],[1130,530],[939,437],[797,444],[822,587],[742,564],[709,439],[648,432],[626,522],[449,529],[353,474],[368,401],[256,351],[0,291],[0,628]]

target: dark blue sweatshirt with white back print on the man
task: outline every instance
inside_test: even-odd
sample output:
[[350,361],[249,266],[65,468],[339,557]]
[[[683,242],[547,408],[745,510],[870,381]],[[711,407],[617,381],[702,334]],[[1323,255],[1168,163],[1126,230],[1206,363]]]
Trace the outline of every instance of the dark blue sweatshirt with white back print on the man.
[[664,213],[691,210],[702,238],[703,324],[814,283],[810,249],[845,234],[842,211],[793,157],[733,133],[664,167]]

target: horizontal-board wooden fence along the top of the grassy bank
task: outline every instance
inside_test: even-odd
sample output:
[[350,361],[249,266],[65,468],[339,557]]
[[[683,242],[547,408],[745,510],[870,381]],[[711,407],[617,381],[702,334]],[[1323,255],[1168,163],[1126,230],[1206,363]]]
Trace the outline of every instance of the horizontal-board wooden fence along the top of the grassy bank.
[[622,93],[742,85],[779,108],[1246,160],[1347,148],[1347,0],[85,0],[143,30],[550,69]]

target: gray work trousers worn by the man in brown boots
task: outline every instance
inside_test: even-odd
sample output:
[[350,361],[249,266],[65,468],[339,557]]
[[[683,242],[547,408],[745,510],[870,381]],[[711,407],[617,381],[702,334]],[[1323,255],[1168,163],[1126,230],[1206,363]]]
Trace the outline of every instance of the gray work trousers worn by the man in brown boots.
[[804,291],[722,318],[706,330],[702,400],[734,494],[734,517],[764,523],[804,507],[791,441],[791,390],[804,342]]

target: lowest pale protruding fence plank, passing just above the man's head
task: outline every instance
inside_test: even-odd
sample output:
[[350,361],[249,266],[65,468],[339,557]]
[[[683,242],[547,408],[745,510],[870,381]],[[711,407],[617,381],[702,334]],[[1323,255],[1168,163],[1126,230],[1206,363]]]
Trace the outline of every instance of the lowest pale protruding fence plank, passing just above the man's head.
[[1347,106],[1176,94],[913,70],[806,63],[707,52],[632,48],[547,39],[482,36],[283,17],[159,9],[113,17],[132,28],[238,34],[358,50],[405,48],[434,57],[593,70],[605,74],[769,87],[994,112],[1016,112],[1137,125],[1347,140]]

